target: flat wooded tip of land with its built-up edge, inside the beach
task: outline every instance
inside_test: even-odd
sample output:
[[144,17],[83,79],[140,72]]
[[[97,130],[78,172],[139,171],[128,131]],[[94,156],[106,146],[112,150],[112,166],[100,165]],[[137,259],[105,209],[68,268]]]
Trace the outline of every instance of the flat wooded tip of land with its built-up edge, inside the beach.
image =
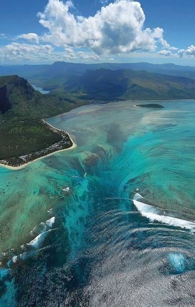
[[0,162],[19,166],[72,146],[68,134],[44,121],[2,122]]

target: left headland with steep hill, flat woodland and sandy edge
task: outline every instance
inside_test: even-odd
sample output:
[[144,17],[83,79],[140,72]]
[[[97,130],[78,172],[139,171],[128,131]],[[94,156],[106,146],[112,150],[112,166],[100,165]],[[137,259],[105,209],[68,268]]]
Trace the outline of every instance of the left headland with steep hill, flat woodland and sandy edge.
[[35,159],[75,146],[66,131],[41,119],[45,114],[52,115],[49,107],[54,103],[56,114],[57,100],[35,91],[26,79],[15,75],[0,77],[0,165],[23,167]]

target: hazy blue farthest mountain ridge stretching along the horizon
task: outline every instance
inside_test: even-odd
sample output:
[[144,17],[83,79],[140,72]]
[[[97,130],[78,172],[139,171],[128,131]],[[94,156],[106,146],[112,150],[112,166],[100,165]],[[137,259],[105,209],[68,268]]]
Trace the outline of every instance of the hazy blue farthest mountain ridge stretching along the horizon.
[[152,73],[183,76],[195,79],[195,67],[149,63],[81,64],[55,62],[52,65],[0,66],[0,76],[17,74],[20,77],[27,78],[29,81],[45,87],[46,89],[54,90],[59,85],[63,85],[63,83],[72,76],[83,75],[87,70],[97,70],[100,68],[111,70],[145,70]]

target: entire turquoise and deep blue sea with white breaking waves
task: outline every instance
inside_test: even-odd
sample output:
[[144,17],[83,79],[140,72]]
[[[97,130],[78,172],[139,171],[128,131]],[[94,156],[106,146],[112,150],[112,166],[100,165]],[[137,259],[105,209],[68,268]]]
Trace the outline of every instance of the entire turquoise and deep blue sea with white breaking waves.
[[195,304],[195,101],[161,104],[50,118],[77,148],[0,168],[1,306]]

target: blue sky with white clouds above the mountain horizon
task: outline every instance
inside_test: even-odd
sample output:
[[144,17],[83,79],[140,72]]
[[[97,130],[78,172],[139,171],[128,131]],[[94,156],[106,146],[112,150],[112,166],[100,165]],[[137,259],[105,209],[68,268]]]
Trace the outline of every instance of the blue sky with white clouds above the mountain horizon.
[[194,0],[0,0],[0,65],[195,66]]

